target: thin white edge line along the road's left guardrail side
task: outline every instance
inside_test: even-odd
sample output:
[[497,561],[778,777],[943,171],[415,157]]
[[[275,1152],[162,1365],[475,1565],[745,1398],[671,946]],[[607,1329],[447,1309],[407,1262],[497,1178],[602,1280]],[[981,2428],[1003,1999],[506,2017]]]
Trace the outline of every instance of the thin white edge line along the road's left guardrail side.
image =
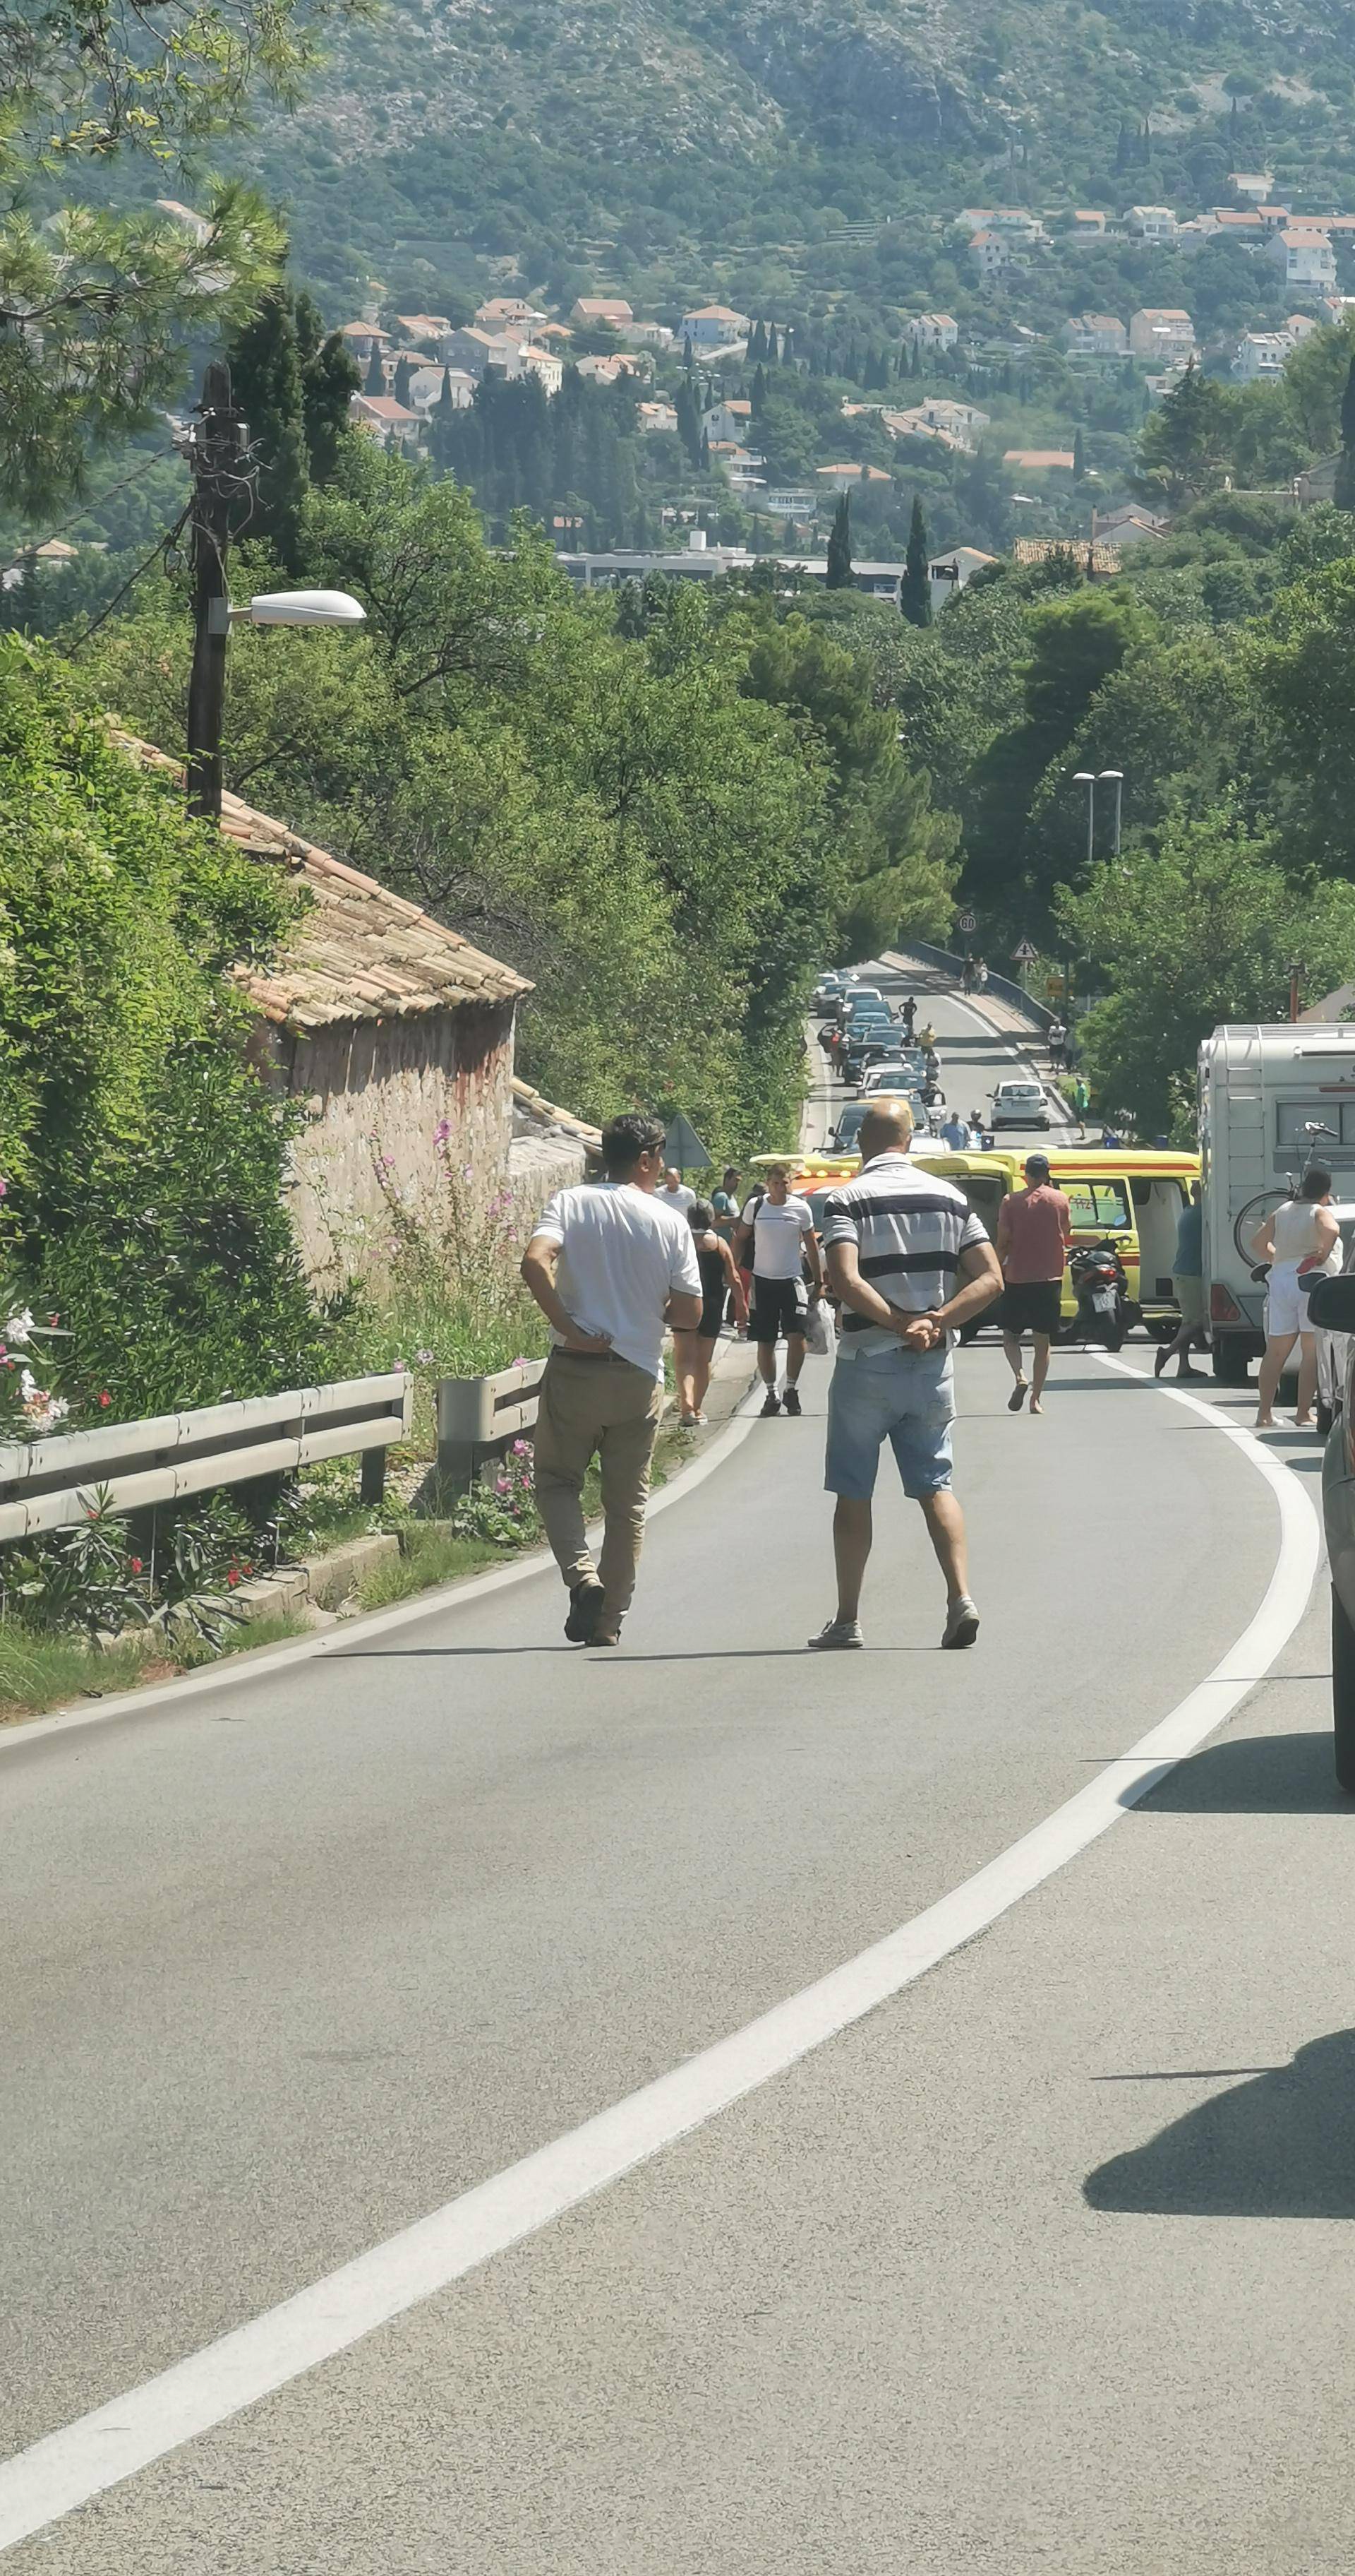
[[[737,1448],[744,1445],[757,1412],[755,1396],[763,1396],[763,1383],[755,1378],[747,1396],[729,1417],[724,1430],[711,1440],[701,1458],[690,1466],[680,1466],[667,1484],[649,1497],[644,1522],[649,1525],[657,1512],[667,1512],[670,1504],[683,1502],[696,1494],[706,1476],[716,1473]],[[276,1646],[270,1654],[250,1654],[245,1662],[227,1656],[222,1664],[206,1664],[204,1672],[188,1672],[175,1682],[152,1682],[149,1690],[121,1690],[116,1698],[98,1700],[93,1708],[59,1708],[52,1718],[28,1718],[18,1726],[0,1726],[0,1757],[10,1752],[23,1752],[28,1744],[41,1744],[44,1736],[70,1736],[85,1726],[106,1726],[108,1718],[126,1716],[157,1716],[165,1708],[175,1708],[180,1700],[196,1700],[206,1690],[229,1690],[242,1682],[252,1682],[258,1674],[289,1672],[294,1664],[309,1664],[322,1654],[350,1654],[368,1636],[384,1636],[389,1628],[410,1628],[420,1618],[441,1618],[446,1610],[459,1610],[461,1602],[484,1600],[487,1592],[505,1592],[507,1584],[523,1584],[528,1574],[544,1574],[554,1569],[554,1556],[549,1548],[533,1548],[531,1556],[520,1556],[513,1566],[497,1566],[492,1574],[474,1574],[469,1582],[438,1584],[433,1592],[420,1592],[412,1602],[397,1602],[394,1610],[371,1610],[366,1618],[348,1618],[340,1628],[327,1628],[322,1636],[304,1636],[296,1646]]]

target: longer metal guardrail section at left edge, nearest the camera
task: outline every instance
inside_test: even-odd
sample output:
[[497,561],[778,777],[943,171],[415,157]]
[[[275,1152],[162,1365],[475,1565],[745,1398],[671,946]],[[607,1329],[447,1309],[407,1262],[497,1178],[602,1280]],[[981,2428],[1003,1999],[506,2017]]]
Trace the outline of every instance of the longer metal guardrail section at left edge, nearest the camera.
[[95,1486],[118,1512],[183,1502],[222,1484],[283,1476],[319,1458],[363,1458],[363,1502],[379,1502],[386,1448],[410,1437],[415,1386],[402,1368],[281,1396],[204,1404],[149,1422],[0,1445],[0,1543],[88,1520]]

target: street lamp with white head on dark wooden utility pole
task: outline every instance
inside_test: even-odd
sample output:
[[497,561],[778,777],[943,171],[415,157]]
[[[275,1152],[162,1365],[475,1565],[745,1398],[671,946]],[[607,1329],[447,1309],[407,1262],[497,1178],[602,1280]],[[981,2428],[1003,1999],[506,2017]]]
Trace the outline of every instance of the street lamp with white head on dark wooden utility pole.
[[227,703],[227,636],[250,626],[363,626],[366,608],[345,590],[263,590],[245,608],[229,605],[227,551],[252,507],[250,430],[232,404],[229,366],[204,374],[201,428],[188,443],[193,474],[193,670],[188,675],[188,811],[222,822],[222,716]]

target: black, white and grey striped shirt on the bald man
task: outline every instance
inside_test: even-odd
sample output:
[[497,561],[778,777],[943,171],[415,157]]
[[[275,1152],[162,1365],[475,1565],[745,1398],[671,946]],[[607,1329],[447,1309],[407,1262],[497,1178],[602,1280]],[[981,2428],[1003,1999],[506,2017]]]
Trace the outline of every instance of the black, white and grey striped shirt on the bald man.
[[[914,1314],[953,1296],[961,1252],[987,1244],[963,1190],[938,1172],[922,1172],[909,1154],[876,1154],[824,1200],[819,1231],[827,1252],[832,1244],[855,1244],[860,1278],[889,1306]],[[842,1355],[850,1350],[899,1350],[899,1337],[845,1306]]]

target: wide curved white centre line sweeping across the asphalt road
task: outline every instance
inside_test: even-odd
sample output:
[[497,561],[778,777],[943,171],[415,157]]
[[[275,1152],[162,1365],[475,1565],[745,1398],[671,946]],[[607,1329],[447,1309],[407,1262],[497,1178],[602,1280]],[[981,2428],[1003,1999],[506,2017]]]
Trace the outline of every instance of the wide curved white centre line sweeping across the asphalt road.
[[[1141,1378],[1141,1370],[1123,1360],[1103,1358],[1103,1365]],[[3,2463],[0,2550],[28,2540],[90,2504],[93,2496],[137,2476],[152,2460],[162,2460],[165,2452],[286,2388],[304,2370],[348,2352],[376,2326],[422,2306],[453,2280],[489,2262],[492,2254],[520,2244],[564,2210],[577,2208],[580,2200],[634,2172],[636,2164],[703,2128],[716,2112],[783,2074],[811,2048],[850,2030],[853,2022],[891,2002],[927,1968],[987,1932],[1010,1906],[1085,1852],[1175,1762],[1195,1752],[1231,1716],[1239,1700],[1270,1672],[1303,1615],[1319,1561],[1316,1515],[1301,1479],[1275,1466],[1247,1430],[1221,1422],[1218,1412],[1200,1404],[1198,1396],[1146,1383],[1149,1391],[1213,1422],[1265,1476],[1280,1512],[1280,1548],[1265,1600],[1208,1680],[1198,1682],[1170,1718],[1162,1718],[1128,1754],[1110,1762],[1043,1824],[1012,1842],[940,1904],[873,1942],[871,1950],[822,1976],[786,2004],[775,2004],[773,2012],[747,2022],[732,2038],[703,2048],[672,2074],[644,2084],[613,2110],[585,2120],[582,2128],[461,2192],[459,2200],[448,2200],[446,2208],[402,2228],[399,2236],[389,2236],[368,2254],[358,2254],[327,2280],[312,2282],[309,2290],[268,2308],[252,2324],[237,2326],[234,2334],[206,2344],[204,2352],[175,2362]],[[714,1458],[716,1450],[701,1461],[696,1473],[711,1473]]]

